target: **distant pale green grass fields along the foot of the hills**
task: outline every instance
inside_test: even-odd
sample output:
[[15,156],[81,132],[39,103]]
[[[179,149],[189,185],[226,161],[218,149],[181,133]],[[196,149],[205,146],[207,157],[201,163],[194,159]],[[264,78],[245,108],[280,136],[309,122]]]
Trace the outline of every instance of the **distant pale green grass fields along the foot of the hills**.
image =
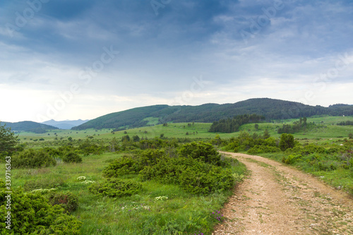
[[[152,121],[152,120],[151,120]],[[240,131],[249,131],[249,133],[258,133],[262,135],[265,129],[270,131],[270,135],[273,137],[280,137],[277,133],[278,128],[282,127],[283,124],[291,124],[297,119],[289,119],[283,121],[274,121],[273,123],[258,123],[258,131],[255,130],[255,123],[246,124],[241,126]],[[299,133],[294,133],[294,137],[302,140],[308,139],[309,142],[323,142],[330,141],[330,139],[343,140],[348,137],[349,133],[353,133],[353,126],[337,126],[336,123],[341,121],[353,121],[353,116],[319,116],[308,118],[307,122],[316,123],[316,128],[300,131]],[[189,124],[189,125],[188,125]],[[164,134],[166,138],[202,138],[202,139],[212,139],[215,138],[217,134],[220,138],[231,138],[233,136],[238,136],[237,133],[210,133],[208,130],[212,123],[169,123],[168,126],[156,125],[156,126],[146,126],[141,128],[133,128],[126,130],[127,134],[132,137],[133,135],[138,135],[140,138],[154,138],[160,137]],[[186,135],[189,133],[189,135]],[[56,135],[57,136],[56,136]],[[120,139],[122,136],[126,135],[125,131],[116,131],[112,133],[112,129],[102,129],[94,130],[88,129],[85,131],[71,131],[71,130],[54,130],[48,131],[44,134],[35,134],[28,132],[19,133],[19,138],[21,142],[33,142],[33,140],[39,141],[40,138],[45,140],[54,141],[57,139],[68,139],[69,137],[73,139],[85,139],[88,136],[92,136],[95,139],[109,140],[112,138]],[[32,139],[32,140],[31,140]],[[302,140],[304,141],[304,140]]]

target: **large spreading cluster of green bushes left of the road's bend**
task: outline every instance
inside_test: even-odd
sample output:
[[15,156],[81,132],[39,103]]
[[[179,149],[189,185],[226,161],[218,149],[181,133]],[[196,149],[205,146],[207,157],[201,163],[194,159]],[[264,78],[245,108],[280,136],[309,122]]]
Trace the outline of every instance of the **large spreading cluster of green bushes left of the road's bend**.
[[[230,163],[221,159],[213,145],[193,142],[182,145],[176,156],[147,149],[135,156],[116,159],[103,170],[106,177],[139,174],[142,181],[173,183],[194,194],[225,191],[234,185]],[[91,186],[95,188],[96,186]]]

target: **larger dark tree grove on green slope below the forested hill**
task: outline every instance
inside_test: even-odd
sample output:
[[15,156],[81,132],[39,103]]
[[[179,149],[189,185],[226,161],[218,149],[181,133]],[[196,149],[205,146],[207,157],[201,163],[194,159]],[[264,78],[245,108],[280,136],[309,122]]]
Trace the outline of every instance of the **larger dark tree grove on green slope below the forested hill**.
[[265,116],[258,116],[256,114],[244,114],[234,116],[233,119],[222,119],[220,121],[213,122],[210,127],[210,132],[223,132],[232,133],[239,131],[239,127],[246,123],[254,123],[265,120]]

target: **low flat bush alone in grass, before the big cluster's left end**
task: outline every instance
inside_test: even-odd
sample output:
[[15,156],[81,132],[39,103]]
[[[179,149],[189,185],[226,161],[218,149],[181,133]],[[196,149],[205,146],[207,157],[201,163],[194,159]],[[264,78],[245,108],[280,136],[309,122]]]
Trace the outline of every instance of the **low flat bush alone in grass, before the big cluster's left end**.
[[103,183],[93,183],[88,189],[95,194],[102,194],[109,197],[122,197],[138,193],[142,188],[142,184],[121,179],[107,179]]

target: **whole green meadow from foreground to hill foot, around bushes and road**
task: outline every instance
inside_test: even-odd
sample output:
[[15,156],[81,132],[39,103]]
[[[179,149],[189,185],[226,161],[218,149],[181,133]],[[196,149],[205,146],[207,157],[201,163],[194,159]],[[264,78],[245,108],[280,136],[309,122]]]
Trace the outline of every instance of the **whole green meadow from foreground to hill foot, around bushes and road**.
[[[148,120],[152,125],[156,120]],[[212,234],[215,224],[222,222],[217,212],[232,195],[232,190],[213,191],[208,194],[195,194],[184,190],[175,183],[165,183],[158,180],[143,181],[139,174],[124,174],[119,179],[131,180],[141,184],[140,191],[133,195],[109,197],[94,194],[89,190],[90,185],[103,182],[106,177],[104,169],[117,159],[139,155],[143,140],[151,141],[152,147],[167,152],[169,157],[175,157],[179,147],[192,141],[213,143],[216,148],[225,149],[232,145],[234,138],[256,138],[268,130],[271,137],[279,140],[278,128],[283,124],[292,124],[297,119],[245,124],[236,133],[210,133],[212,123],[167,123],[164,125],[145,126],[114,131],[112,129],[88,129],[85,131],[53,130],[47,133],[35,134],[18,133],[20,145],[25,149],[40,150],[42,147],[54,149],[63,148],[65,151],[76,149],[83,143],[95,147],[106,147],[107,150],[82,155],[80,163],[64,163],[57,160],[56,166],[36,169],[12,169],[12,187],[23,188],[25,193],[34,189],[55,188],[54,193],[73,193],[78,197],[78,209],[71,215],[82,222],[81,234]],[[353,133],[353,126],[337,126],[341,121],[353,121],[352,116],[317,116],[307,119],[307,123],[315,123],[311,128],[294,133],[301,146],[314,144],[329,150],[332,146],[339,146],[347,142],[349,133]],[[257,127],[257,128],[256,128]],[[138,136],[140,142],[133,143],[126,140]],[[253,137],[251,137],[253,136]],[[117,141],[119,150],[109,151],[109,146]],[[141,142],[142,141],[142,142]],[[346,142],[345,142],[346,141]],[[156,146],[160,145],[160,146]],[[174,147],[172,147],[174,146]],[[179,147],[175,147],[179,146]],[[64,151],[63,150],[63,151]],[[241,150],[240,152],[247,152]],[[259,153],[264,157],[282,159],[292,152]],[[326,158],[325,158],[326,157]],[[308,159],[310,156],[308,157]],[[294,166],[318,176],[323,181],[339,189],[353,188],[352,169],[343,169],[334,157],[323,156],[324,164],[337,163],[337,169],[320,170],[315,168],[313,160],[299,161]],[[335,164],[336,164],[335,163]],[[317,164],[317,162],[315,163]],[[4,163],[0,165],[3,169]],[[244,164],[234,162],[229,168],[234,181],[239,183],[247,174]],[[79,177],[84,176],[85,180]],[[83,177],[81,177],[83,179]],[[45,195],[45,194],[44,194]]]

